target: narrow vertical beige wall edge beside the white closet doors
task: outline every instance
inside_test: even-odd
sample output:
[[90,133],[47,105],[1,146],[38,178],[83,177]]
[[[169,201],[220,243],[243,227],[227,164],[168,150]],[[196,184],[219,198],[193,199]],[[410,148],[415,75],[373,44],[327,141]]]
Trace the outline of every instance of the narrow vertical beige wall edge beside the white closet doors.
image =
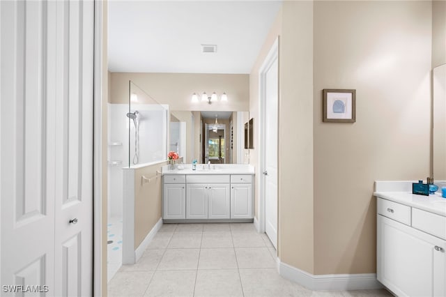
[[101,267],[101,288],[102,296],[107,296],[107,148],[108,148],[108,128],[107,128],[107,102],[109,100],[109,75],[108,75],[108,49],[107,49],[107,1],[103,1],[102,6],[102,152],[101,152],[101,162],[102,162],[102,203],[101,203],[101,221],[102,221],[102,267]]

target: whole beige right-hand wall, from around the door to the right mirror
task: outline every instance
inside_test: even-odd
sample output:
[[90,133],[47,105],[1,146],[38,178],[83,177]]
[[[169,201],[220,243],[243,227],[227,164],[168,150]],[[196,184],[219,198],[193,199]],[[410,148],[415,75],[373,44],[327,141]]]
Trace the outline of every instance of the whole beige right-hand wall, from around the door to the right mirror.
[[[255,119],[259,68],[280,36],[284,263],[316,275],[376,272],[374,181],[429,175],[431,31],[429,1],[284,1],[249,77]],[[322,89],[356,89],[356,123],[322,123]]]

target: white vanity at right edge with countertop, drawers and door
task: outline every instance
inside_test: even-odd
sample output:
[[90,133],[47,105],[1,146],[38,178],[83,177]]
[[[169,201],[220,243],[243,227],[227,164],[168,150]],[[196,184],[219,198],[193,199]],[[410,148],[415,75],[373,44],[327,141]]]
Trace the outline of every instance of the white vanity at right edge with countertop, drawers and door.
[[377,279],[397,296],[446,296],[446,199],[376,181]]

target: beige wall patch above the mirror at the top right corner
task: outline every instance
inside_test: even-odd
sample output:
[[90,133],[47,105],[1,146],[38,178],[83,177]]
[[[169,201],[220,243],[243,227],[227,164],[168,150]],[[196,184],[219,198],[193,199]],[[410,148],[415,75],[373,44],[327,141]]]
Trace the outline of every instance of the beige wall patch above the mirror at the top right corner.
[[432,68],[446,63],[446,1],[432,1]]

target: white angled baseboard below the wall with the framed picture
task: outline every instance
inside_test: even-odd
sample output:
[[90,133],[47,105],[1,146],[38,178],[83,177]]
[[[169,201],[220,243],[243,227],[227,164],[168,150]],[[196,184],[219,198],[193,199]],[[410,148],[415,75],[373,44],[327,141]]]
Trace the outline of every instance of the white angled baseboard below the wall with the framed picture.
[[284,264],[277,259],[279,274],[288,280],[314,291],[318,290],[367,290],[381,289],[376,273],[312,275],[298,268]]

